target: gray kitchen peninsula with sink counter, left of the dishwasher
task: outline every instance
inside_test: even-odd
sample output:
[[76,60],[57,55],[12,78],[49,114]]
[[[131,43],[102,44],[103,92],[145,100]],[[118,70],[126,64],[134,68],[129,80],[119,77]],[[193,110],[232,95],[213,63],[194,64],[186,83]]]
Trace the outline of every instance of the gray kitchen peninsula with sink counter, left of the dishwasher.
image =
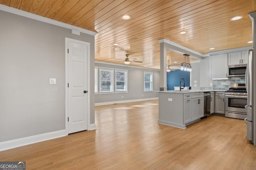
[[201,90],[159,92],[158,123],[186,129],[186,125],[204,117],[204,93]]

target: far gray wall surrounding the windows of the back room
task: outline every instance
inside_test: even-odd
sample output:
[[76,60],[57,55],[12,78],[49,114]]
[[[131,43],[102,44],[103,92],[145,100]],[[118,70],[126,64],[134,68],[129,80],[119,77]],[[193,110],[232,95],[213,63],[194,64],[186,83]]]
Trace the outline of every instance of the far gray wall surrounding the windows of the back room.
[[[95,63],[95,66],[128,70],[128,93],[95,94],[95,103],[158,98],[158,92],[144,92],[144,71],[153,72],[153,91],[159,91],[160,70],[123,66],[121,64]],[[143,96],[142,96],[143,95]],[[123,96],[123,98],[122,98]]]

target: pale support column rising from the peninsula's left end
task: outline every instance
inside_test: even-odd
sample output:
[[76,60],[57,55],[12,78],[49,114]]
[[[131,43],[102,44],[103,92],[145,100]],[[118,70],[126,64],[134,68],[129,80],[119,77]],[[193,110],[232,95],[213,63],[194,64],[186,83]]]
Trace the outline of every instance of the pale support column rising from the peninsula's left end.
[[160,91],[167,91],[166,50],[167,49],[165,43],[160,43]]

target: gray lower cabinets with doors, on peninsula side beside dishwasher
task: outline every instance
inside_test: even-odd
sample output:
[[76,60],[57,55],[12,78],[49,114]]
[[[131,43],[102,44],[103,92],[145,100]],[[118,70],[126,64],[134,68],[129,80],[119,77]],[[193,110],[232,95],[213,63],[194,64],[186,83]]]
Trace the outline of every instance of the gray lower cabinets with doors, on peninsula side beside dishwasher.
[[[204,93],[195,93],[183,101],[183,123],[189,123],[204,116]],[[185,98],[185,97],[184,97]]]

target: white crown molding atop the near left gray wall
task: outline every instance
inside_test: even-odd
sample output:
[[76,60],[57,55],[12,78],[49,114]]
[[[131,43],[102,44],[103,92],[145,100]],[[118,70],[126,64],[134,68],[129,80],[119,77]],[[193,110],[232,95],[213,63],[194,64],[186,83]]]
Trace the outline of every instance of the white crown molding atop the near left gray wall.
[[45,22],[45,23],[50,23],[50,24],[57,25],[57,26],[60,26],[60,27],[68,28],[68,29],[71,29],[71,30],[74,29],[76,31],[80,31],[82,33],[86,33],[86,34],[89,34],[89,35],[93,35],[93,36],[97,35],[97,33],[94,32],[94,31],[90,31],[90,30],[87,30],[87,29],[76,27],[74,25],[70,25],[70,24],[67,24],[67,23],[60,22],[60,21],[52,20],[50,18],[46,18],[46,17],[43,17],[43,16],[38,16],[36,14],[32,14],[32,13],[29,13],[29,12],[26,12],[26,11],[22,11],[22,10],[18,10],[16,8],[12,8],[10,6],[5,6],[5,5],[0,4],[0,10],[5,11],[5,12],[10,12],[12,14],[17,14],[17,15],[20,15],[20,16],[24,16],[26,18],[31,18],[31,19],[42,21],[42,22]]

